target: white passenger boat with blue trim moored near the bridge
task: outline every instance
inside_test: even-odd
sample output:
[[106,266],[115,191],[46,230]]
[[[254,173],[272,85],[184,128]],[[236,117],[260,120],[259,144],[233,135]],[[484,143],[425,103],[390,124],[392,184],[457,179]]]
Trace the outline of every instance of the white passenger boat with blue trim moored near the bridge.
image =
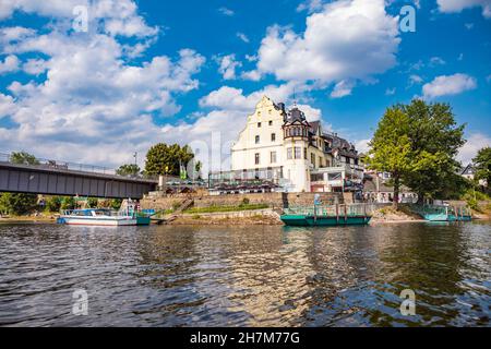
[[74,226],[136,226],[137,218],[128,210],[85,208],[63,210],[57,222]]

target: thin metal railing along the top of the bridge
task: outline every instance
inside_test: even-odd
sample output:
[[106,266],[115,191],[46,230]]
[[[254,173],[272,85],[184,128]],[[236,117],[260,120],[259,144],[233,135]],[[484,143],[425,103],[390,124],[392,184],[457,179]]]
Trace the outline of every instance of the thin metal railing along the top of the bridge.
[[77,171],[77,172],[86,172],[86,173],[99,173],[99,174],[110,174],[118,176],[122,178],[134,178],[134,179],[149,179],[156,180],[153,177],[144,177],[141,174],[135,176],[121,176],[116,172],[115,169],[96,166],[96,165],[86,165],[86,164],[77,164],[77,163],[67,163],[60,160],[52,159],[44,159],[36,157],[34,159],[29,159],[25,163],[15,161],[12,157],[12,154],[0,153],[0,163],[8,163],[14,165],[26,165],[34,168],[44,168],[44,169],[56,169],[56,170],[65,170],[65,171]]

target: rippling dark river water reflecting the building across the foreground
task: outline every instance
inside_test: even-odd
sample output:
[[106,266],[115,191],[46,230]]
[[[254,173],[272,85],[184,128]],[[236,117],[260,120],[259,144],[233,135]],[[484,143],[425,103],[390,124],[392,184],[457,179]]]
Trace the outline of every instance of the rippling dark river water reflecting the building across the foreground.
[[490,326],[490,306],[489,221],[0,225],[1,326]]

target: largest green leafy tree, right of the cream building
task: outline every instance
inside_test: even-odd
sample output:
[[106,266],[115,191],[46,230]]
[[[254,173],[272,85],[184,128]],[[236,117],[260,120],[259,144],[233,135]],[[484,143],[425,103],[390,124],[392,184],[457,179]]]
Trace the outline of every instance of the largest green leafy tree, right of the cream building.
[[370,166],[392,173],[394,206],[402,183],[423,197],[458,196],[467,182],[456,176],[455,160],[465,144],[465,125],[457,125],[447,104],[414,99],[388,108],[371,141]]

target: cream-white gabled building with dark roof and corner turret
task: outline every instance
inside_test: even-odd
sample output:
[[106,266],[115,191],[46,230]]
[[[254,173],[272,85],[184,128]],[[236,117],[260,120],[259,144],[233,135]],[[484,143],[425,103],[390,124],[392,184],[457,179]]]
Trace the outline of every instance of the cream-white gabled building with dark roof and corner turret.
[[362,177],[352,144],[324,132],[319,121],[308,122],[297,107],[286,110],[264,96],[231,147],[231,171],[212,173],[211,182],[243,189],[262,181],[289,192],[342,192],[356,190]]

